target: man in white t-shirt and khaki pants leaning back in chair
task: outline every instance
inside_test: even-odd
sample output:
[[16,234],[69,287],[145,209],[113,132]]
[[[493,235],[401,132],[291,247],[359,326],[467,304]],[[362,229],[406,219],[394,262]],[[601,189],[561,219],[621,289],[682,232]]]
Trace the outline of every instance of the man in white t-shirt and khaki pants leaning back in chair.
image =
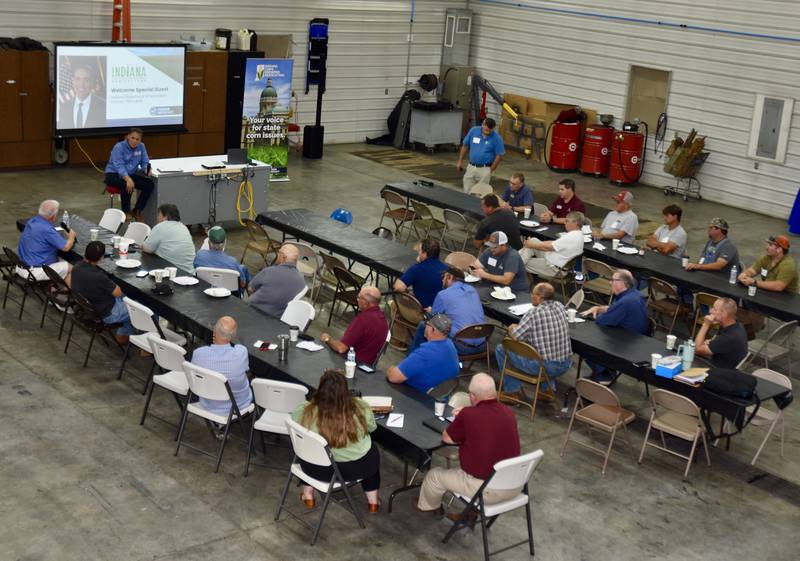
[[583,222],[583,213],[570,212],[564,221],[564,228],[567,231],[557,240],[542,241],[536,238],[525,240],[519,252],[525,263],[525,270],[539,278],[551,279],[571,259],[582,255]]

